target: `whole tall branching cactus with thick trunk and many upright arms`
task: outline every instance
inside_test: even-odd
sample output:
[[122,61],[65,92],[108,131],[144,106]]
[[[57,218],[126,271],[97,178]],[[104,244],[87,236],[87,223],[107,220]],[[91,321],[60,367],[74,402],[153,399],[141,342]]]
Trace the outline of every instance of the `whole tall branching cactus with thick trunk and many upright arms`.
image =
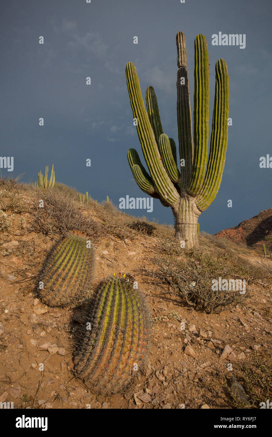
[[[171,207],[175,217],[175,237],[179,242],[184,241],[189,248],[198,246],[198,217],[214,200],[222,179],[227,150],[228,71],[224,59],[218,59],[215,66],[213,124],[208,158],[210,71],[207,41],[204,35],[197,35],[195,39],[194,139],[186,68],[186,39],[183,32],[177,34],[176,44],[180,165],[177,165],[174,140],[162,131],[155,91],[152,87],[146,91],[146,111],[132,62],[126,66],[127,89],[134,118],[138,121],[138,137],[150,174],[135,149],[128,150],[127,158],[141,190],[158,198],[162,205]],[[181,247],[184,246],[181,244]]]

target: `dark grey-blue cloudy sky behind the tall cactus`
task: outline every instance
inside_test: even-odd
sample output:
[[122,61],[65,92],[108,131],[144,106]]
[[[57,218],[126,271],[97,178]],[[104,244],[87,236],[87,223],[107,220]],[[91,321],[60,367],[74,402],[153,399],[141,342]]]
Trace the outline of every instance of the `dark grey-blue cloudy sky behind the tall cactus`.
[[[192,110],[194,38],[202,33],[210,59],[210,121],[214,66],[223,58],[233,125],[221,187],[200,215],[200,229],[215,233],[270,208],[272,169],[261,169],[259,158],[272,156],[271,16],[268,0],[1,2],[0,156],[14,156],[13,174],[25,173],[25,182],[37,180],[38,171],[54,163],[57,181],[98,201],[108,195],[118,205],[127,194],[145,196],[127,163],[127,149],[142,154],[126,63],[134,62],[143,96],[154,87],[163,130],[177,144],[176,33],[186,35]],[[212,35],[220,31],[246,34],[245,49],[213,46]],[[38,43],[41,35],[44,45]],[[10,173],[2,169],[2,174]],[[171,209],[155,199],[152,213],[132,214],[173,222]]]

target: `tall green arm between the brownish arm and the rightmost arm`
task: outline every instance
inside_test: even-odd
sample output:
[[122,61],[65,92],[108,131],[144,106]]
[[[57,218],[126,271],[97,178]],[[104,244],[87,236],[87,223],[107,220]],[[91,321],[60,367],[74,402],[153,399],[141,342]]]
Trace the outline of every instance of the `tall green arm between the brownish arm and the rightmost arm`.
[[204,35],[197,35],[195,39],[194,79],[193,170],[187,188],[188,193],[193,197],[202,187],[208,156],[210,69],[207,41]]

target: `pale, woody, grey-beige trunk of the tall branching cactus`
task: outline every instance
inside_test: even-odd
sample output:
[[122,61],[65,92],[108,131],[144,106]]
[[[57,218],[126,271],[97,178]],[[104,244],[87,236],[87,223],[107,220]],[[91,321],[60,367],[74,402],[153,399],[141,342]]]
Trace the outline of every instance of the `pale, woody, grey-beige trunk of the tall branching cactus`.
[[172,212],[175,218],[175,238],[179,241],[180,247],[198,248],[197,220],[200,211],[196,206],[196,199],[189,195],[184,196],[179,204],[172,208]]

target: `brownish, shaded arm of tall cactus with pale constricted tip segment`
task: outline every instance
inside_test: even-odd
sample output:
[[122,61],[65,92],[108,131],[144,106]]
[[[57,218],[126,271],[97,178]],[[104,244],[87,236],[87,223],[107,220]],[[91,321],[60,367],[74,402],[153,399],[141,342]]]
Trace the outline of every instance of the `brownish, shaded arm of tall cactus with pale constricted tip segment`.
[[[189,92],[189,75],[187,66],[186,39],[183,32],[176,36],[177,44],[177,120],[179,133],[179,157],[185,160],[185,166],[180,167],[180,189],[183,193],[189,184],[193,165],[193,133],[192,114]],[[185,78],[182,85],[181,78]]]

